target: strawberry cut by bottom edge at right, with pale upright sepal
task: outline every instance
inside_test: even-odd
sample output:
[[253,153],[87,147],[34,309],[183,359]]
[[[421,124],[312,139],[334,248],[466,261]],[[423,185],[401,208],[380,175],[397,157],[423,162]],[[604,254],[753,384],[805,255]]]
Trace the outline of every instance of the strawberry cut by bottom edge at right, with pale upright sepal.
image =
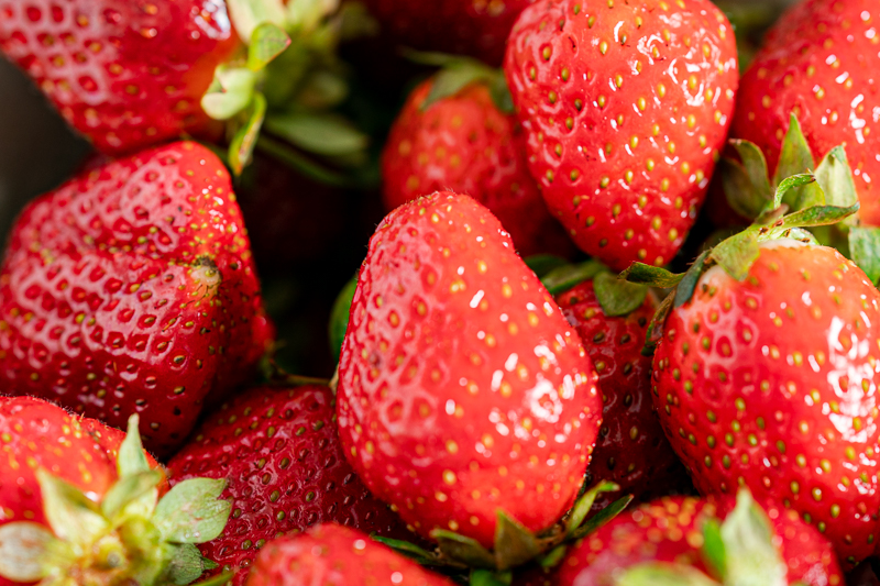
[[[751,507],[754,511],[748,510]],[[628,570],[658,564],[653,567],[667,571],[690,566],[722,578],[723,584],[743,583],[729,579],[733,575],[743,578],[745,574],[755,579],[756,572],[762,572],[758,581],[761,584],[843,586],[844,578],[834,549],[815,529],[798,519],[793,511],[776,506],[767,508],[766,517],[756,505],[750,504],[748,508],[744,510],[740,501],[735,509],[734,499],[729,497],[722,500],[664,498],[644,505],[620,515],[584,539],[562,562],[556,584],[609,584],[614,582],[613,576],[619,579]],[[706,549],[712,548],[706,540],[706,524],[713,520],[716,523],[724,520],[719,533],[726,542],[724,565],[727,572],[718,572],[721,568],[712,563],[714,560],[706,556]],[[749,548],[749,557],[737,559],[737,554],[741,555],[743,550]],[[637,582],[622,581],[619,584]],[[680,584],[694,582],[682,581]]]

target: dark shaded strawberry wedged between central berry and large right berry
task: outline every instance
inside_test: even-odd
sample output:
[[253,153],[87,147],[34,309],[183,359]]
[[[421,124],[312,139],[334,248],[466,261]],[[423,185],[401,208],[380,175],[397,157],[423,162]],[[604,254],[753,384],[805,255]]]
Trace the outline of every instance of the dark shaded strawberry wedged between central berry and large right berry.
[[[605,275],[597,277],[602,285]],[[585,280],[558,295],[557,301],[596,367],[605,405],[586,484],[609,480],[620,486],[617,495],[602,494],[593,508],[607,507],[620,494],[642,502],[688,490],[688,474],[653,410],[651,358],[641,354],[657,310],[653,298],[645,296],[631,312],[610,316],[597,299],[594,281]]]

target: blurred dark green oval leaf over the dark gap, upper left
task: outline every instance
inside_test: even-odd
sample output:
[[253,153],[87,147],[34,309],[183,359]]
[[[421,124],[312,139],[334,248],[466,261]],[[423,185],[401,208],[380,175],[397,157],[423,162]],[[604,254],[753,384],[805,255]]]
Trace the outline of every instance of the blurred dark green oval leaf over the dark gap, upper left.
[[266,119],[266,130],[290,144],[318,155],[340,156],[360,153],[370,137],[348,120],[334,114],[286,113]]

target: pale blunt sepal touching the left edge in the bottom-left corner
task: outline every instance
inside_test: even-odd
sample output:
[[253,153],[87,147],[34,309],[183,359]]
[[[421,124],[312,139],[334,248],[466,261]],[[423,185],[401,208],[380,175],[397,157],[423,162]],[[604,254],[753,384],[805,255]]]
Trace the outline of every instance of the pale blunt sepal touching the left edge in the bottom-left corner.
[[46,575],[46,552],[57,544],[42,524],[19,521],[0,526],[0,576],[11,582],[36,582]]

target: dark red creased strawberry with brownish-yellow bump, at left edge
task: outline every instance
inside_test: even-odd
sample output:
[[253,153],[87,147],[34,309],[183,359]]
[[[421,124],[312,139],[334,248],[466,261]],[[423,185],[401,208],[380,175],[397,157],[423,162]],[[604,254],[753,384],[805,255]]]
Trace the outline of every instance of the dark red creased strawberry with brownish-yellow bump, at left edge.
[[0,379],[164,454],[271,338],[230,177],[195,143],[86,172],[19,218],[0,272]]

